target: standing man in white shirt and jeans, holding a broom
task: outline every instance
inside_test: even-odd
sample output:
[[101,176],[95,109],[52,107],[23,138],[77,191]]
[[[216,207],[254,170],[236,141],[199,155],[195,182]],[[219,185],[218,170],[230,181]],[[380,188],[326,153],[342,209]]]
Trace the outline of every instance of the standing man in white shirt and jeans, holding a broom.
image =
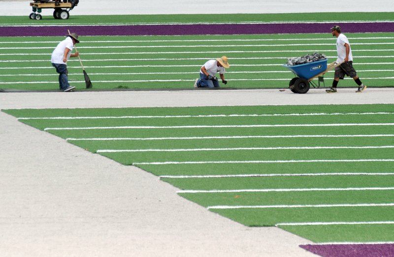
[[69,57],[79,56],[78,52],[72,54],[72,49],[76,43],[79,43],[78,35],[71,33],[52,52],[51,62],[52,66],[56,68],[56,72],[59,73],[59,88],[65,92],[75,88],[75,86],[68,84],[67,60]]

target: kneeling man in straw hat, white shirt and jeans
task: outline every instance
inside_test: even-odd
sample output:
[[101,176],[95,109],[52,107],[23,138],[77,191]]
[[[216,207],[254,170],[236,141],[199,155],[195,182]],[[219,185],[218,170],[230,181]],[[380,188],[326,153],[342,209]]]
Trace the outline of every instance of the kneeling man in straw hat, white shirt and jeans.
[[225,56],[205,62],[200,69],[200,78],[196,79],[194,87],[219,87],[219,81],[215,76],[217,72],[220,74],[222,83],[226,85],[224,74],[229,67],[229,60]]

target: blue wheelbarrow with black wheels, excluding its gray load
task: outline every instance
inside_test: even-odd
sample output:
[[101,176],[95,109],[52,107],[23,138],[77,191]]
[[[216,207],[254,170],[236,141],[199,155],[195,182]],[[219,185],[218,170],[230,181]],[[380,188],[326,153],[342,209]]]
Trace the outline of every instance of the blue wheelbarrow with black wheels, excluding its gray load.
[[[296,75],[289,83],[290,90],[294,93],[305,94],[308,92],[310,85],[315,88],[319,88],[321,82],[324,85],[323,75],[340,64],[332,62],[327,65],[327,59],[325,59],[293,66],[285,64],[283,66]],[[316,78],[319,78],[318,84],[313,82]]]

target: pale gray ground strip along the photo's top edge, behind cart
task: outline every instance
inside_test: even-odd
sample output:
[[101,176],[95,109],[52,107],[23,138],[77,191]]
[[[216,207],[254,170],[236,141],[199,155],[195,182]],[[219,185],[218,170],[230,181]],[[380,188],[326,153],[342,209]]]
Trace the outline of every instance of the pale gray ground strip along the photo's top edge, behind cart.
[[[31,0],[0,0],[1,15],[29,15]],[[71,15],[393,12],[392,0],[80,0]],[[362,17],[361,17],[362,19]]]

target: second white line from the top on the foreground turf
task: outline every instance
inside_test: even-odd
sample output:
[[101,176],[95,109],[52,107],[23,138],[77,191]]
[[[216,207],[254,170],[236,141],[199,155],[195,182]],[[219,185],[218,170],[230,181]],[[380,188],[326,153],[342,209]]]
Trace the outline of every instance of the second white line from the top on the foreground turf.
[[173,129],[173,128],[267,128],[267,127],[331,127],[331,126],[393,126],[394,123],[328,123],[328,124],[256,124],[256,125],[190,125],[190,126],[114,126],[45,128],[44,130],[86,129]]

